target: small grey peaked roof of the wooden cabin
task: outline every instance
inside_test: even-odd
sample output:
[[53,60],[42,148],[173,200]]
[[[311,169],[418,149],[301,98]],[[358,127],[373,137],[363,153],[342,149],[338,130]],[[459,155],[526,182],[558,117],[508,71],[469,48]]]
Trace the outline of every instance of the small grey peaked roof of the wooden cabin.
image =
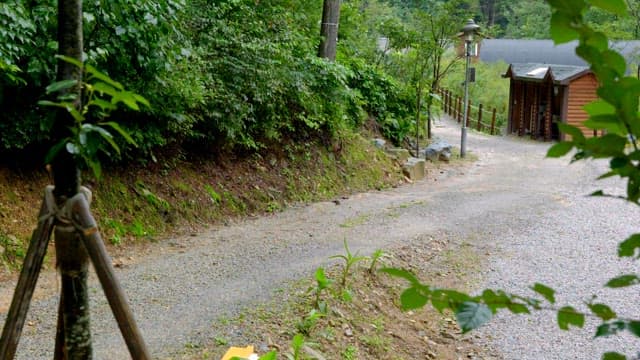
[[587,66],[513,63],[509,65],[504,77],[531,82],[542,82],[550,79],[554,84],[566,85],[573,79],[588,73],[591,73],[591,70]]

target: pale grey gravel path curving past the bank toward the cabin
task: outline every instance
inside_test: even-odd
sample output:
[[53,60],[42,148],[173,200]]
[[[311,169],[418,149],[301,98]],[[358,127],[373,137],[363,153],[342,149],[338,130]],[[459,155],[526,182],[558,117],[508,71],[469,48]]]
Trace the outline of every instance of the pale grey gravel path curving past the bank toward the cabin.
[[[434,131],[459,142],[456,124],[442,121]],[[471,132],[468,149],[479,160],[467,168],[354,195],[339,205],[316,203],[169,239],[118,276],[157,359],[214,338],[217,318],[309,276],[330,255],[343,253],[345,238],[353,251],[370,254],[397,243],[420,246],[446,232],[487,256],[482,286],[529,294],[527,285],[538,281],[558,289],[563,304],[579,305],[597,294],[620,312],[638,314],[637,288],[624,291],[624,299],[622,292],[601,289],[609,277],[638,271],[637,264],[615,257],[616,243],[640,231],[633,221],[638,210],[585,197],[598,186],[618,193],[622,186],[595,183],[606,164],[544,159],[548,146]],[[5,286],[0,295],[12,290]],[[128,358],[102,291],[94,287],[91,293],[95,358]],[[19,359],[52,357],[56,302],[45,294],[32,305]],[[478,336],[506,359],[595,359],[638,346],[624,337],[593,341],[592,333],[560,332],[553,314],[536,314],[500,316]]]

